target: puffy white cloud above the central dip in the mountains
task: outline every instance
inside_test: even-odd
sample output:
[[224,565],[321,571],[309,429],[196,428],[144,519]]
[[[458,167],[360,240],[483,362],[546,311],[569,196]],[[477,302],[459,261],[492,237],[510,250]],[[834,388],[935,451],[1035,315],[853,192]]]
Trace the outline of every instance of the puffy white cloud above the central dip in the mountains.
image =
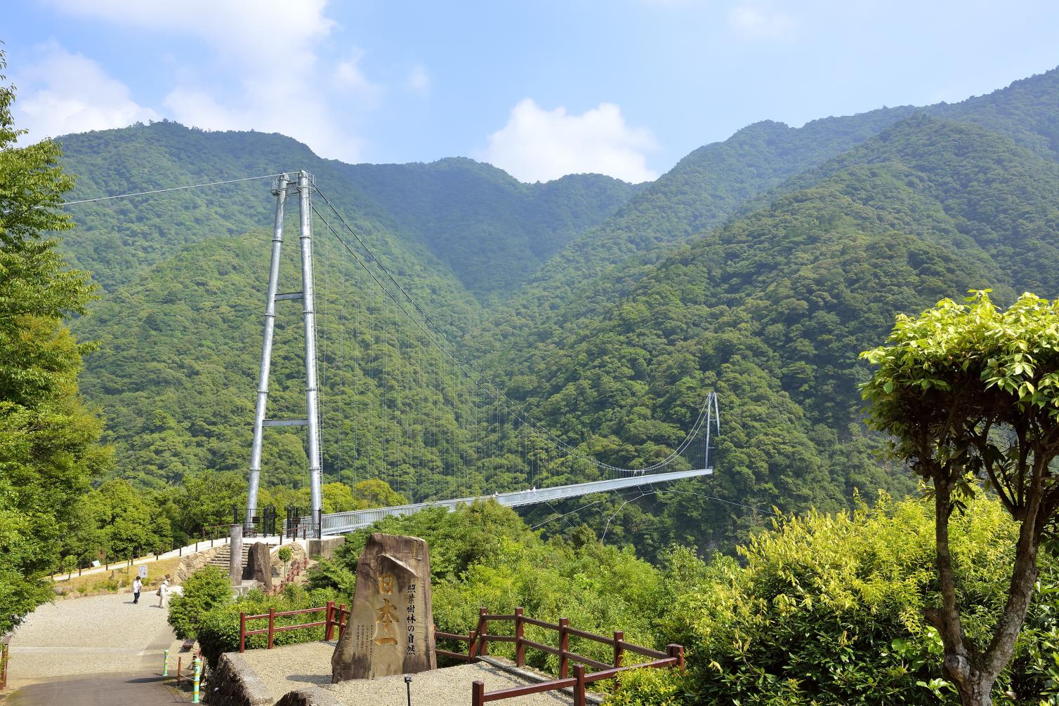
[[658,178],[646,157],[657,148],[651,131],[626,125],[613,103],[569,115],[561,106],[548,111],[524,98],[479,157],[526,182],[585,173],[641,182]]

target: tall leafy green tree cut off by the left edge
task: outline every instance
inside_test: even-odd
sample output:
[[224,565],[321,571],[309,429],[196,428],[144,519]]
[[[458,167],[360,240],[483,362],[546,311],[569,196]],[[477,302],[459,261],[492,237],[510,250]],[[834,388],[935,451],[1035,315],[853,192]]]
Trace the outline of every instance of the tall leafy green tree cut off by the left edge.
[[59,563],[77,499],[109,465],[102,422],[77,391],[89,346],[65,325],[93,286],[44,235],[73,227],[57,211],[73,179],[51,140],[15,146],[25,131],[14,99],[0,86],[0,634],[51,598],[42,577]]

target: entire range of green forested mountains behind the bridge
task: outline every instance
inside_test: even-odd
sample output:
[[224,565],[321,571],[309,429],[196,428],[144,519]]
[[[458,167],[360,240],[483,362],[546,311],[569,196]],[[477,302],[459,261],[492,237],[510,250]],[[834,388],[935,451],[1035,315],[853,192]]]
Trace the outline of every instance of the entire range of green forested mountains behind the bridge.
[[[1023,289],[1059,295],[1057,75],[956,105],[758,123],[642,186],[598,176],[521,184],[463,159],[345,165],[280,135],[175,124],[64,146],[82,175],[76,198],[308,167],[402,286],[487,354],[508,394],[607,463],[657,458],[719,391],[713,478],[640,503],[591,499],[597,507],[577,515],[613,521],[611,538],[652,555],[669,540],[730,546],[772,506],[837,509],[855,489],[911,488],[859,423],[857,355],[896,313],[970,288],[1002,301]],[[83,386],[106,410],[122,475],[157,485],[246,466],[264,184],[74,213],[67,247],[107,289],[77,322],[78,336],[101,342]],[[495,420],[461,426],[445,412],[467,398],[459,370],[412,352],[429,342],[338,248],[319,248],[318,272],[330,277],[318,275],[331,372],[322,384],[337,420],[325,424],[328,479],[344,468],[426,497],[447,492],[445,469],[463,464],[490,490],[524,483],[518,454],[486,460],[514,443]],[[294,268],[286,263],[285,276]],[[302,404],[295,324],[279,333],[276,367],[290,375],[274,378],[273,416]],[[269,433],[265,477],[297,482],[301,438]],[[425,470],[402,439],[417,439]],[[544,477],[569,472],[554,458]]]

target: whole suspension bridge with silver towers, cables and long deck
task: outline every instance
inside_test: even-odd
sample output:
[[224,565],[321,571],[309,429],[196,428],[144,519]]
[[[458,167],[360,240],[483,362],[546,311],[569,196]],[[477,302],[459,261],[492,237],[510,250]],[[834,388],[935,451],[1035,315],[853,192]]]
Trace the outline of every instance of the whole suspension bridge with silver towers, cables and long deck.
[[[247,526],[254,522],[270,428],[298,428],[303,433],[311,506],[305,524],[319,536],[353,531],[384,517],[428,507],[452,510],[485,499],[519,507],[713,473],[711,433],[720,431],[715,393],[704,391],[700,406],[689,411],[682,441],[652,445],[650,463],[624,467],[600,460],[590,439],[549,429],[508,397],[456,343],[452,327],[439,323],[437,314],[431,316],[412,296],[306,170],[66,205],[255,180],[271,181],[274,220],[269,270],[263,273],[267,293],[249,450]],[[299,242],[297,258],[288,253],[285,259],[291,200],[297,200]],[[326,237],[315,239],[315,225],[323,228]],[[282,291],[281,280],[292,288]],[[373,312],[351,283],[378,288],[388,310]],[[373,301],[377,309],[377,300]],[[286,303],[300,303],[301,310],[284,311],[290,306]],[[304,405],[291,416],[270,417],[276,324],[299,314],[304,365],[282,375],[286,388],[293,374],[303,376]],[[290,327],[280,330],[285,328]],[[289,356],[281,361],[290,367]],[[290,396],[284,399],[280,406],[290,412]],[[268,469],[264,472],[267,477]],[[349,485],[358,479],[383,481],[412,502],[325,513],[325,475],[352,481]]]

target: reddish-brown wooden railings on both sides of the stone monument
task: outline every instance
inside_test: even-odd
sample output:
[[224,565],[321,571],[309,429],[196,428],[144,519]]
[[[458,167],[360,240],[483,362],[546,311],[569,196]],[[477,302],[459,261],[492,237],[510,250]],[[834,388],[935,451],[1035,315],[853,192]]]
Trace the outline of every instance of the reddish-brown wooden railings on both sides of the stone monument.
[[[325,617],[321,621],[298,626],[275,626],[275,618],[280,616],[319,613],[321,611],[324,611],[325,613]],[[285,630],[301,630],[304,628],[323,626],[324,639],[330,640],[335,638],[335,628],[337,627],[339,631],[339,639],[341,639],[342,633],[345,632],[345,626],[348,623],[351,613],[351,610],[346,610],[345,603],[336,607],[335,601],[328,601],[327,604],[322,608],[307,608],[301,611],[282,611],[280,613],[269,611],[268,613],[264,613],[262,615],[247,615],[246,613],[240,613],[239,652],[246,651],[246,638],[249,635],[268,634],[268,649],[271,650],[275,633],[283,632]],[[268,618],[267,629],[247,630],[248,620],[261,620],[265,618]],[[489,622],[514,622],[515,629],[513,632],[515,634],[490,634]],[[526,639],[524,632],[525,626],[527,624],[557,632],[558,647],[552,647],[551,645],[544,645],[543,642]],[[604,645],[610,645],[613,648],[613,664],[599,662],[597,659],[592,659],[590,657],[571,652],[571,636],[581,637],[584,639],[602,642]],[[680,645],[669,645],[667,646],[665,652],[660,652],[650,648],[626,642],[625,633],[622,631],[615,631],[611,637],[596,635],[595,633],[571,628],[570,620],[567,618],[559,618],[559,622],[556,623],[527,617],[523,615],[521,608],[516,608],[514,615],[490,615],[489,612],[483,608],[479,611],[478,627],[474,630],[471,630],[466,635],[456,635],[453,633],[438,632],[435,627],[435,649],[438,639],[453,639],[467,642],[466,654],[463,652],[451,652],[449,650],[436,650],[439,655],[459,659],[461,662],[474,662],[474,659],[479,656],[487,656],[489,653],[489,642],[514,642],[515,664],[519,667],[525,666],[526,648],[540,650],[541,652],[554,654],[559,657],[559,678],[557,680],[541,682],[540,684],[532,684],[530,686],[499,689],[497,691],[486,691],[484,682],[474,682],[471,687],[472,706],[484,706],[485,703],[490,701],[500,701],[501,699],[525,696],[531,693],[540,693],[541,691],[554,691],[557,689],[568,688],[573,688],[574,706],[585,706],[585,691],[589,684],[613,678],[621,672],[628,671],[630,669],[658,669],[663,667],[668,667],[670,669],[677,668],[681,672],[684,671],[684,648]],[[626,653],[638,654],[643,657],[649,657],[649,659],[633,665],[626,665],[624,664],[626,662]],[[570,676],[571,663],[580,663],[574,665],[573,676]],[[597,669],[598,671],[586,673],[586,666]]]

